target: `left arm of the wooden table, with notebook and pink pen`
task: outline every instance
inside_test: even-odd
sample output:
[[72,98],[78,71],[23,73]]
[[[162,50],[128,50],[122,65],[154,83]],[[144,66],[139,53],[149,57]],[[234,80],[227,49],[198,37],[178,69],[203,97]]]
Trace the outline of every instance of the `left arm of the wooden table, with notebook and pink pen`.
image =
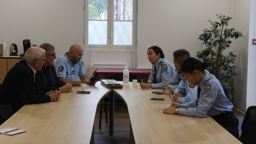
[[97,104],[112,90],[100,82],[87,86],[90,94],[62,93],[58,102],[25,105],[0,125],[20,128],[25,133],[9,136],[0,134],[0,144],[89,144],[93,143],[93,124]]

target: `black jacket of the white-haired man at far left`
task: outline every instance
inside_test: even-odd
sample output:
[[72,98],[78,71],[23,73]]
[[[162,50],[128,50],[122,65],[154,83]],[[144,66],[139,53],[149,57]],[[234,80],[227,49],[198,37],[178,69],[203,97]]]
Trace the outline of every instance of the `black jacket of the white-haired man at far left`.
[[0,91],[0,104],[11,105],[14,112],[27,104],[45,103],[50,96],[36,90],[34,73],[25,60],[16,63],[4,78]]

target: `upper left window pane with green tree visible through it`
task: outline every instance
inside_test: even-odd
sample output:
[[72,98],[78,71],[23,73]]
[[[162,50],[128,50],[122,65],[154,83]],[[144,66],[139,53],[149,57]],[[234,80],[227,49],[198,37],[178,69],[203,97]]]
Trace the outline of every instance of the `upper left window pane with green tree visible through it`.
[[107,20],[108,1],[89,0],[88,18],[91,20]]

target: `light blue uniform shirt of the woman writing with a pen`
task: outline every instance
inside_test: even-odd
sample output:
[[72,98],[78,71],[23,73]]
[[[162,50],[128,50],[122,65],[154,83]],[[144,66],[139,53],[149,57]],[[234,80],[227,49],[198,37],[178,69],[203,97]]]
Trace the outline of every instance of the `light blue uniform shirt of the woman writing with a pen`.
[[208,114],[214,117],[233,110],[233,104],[227,99],[221,83],[214,75],[206,73],[199,87],[201,91],[198,105],[196,106],[196,100],[181,104],[178,114],[189,117],[206,117]]

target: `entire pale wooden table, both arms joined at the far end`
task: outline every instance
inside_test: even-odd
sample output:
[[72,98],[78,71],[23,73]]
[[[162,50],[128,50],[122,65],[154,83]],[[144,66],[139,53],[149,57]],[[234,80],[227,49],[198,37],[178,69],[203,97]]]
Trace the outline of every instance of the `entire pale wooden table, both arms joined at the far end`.
[[[98,82],[87,87],[90,94],[76,94],[77,90],[80,87],[73,87],[71,93],[61,94],[58,102],[23,106],[0,125],[0,129],[20,128],[27,132],[14,136],[0,134],[0,143],[93,143],[96,108],[110,92],[124,99],[128,107],[131,143],[240,143],[211,117],[192,118],[161,113],[170,105],[170,98],[151,92],[162,90],[133,87],[131,82],[123,89],[113,90]],[[165,98],[165,101],[151,101],[152,97]],[[113,125],[113,121],[110,123]]]

